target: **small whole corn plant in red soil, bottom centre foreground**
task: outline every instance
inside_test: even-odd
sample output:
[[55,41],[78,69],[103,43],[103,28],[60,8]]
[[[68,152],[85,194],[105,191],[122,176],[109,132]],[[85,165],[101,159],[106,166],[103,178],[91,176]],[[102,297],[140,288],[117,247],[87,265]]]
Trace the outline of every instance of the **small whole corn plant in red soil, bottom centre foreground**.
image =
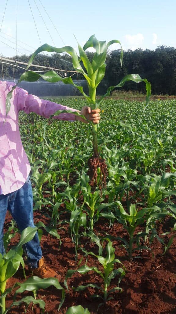
[[[103,292],[103,297],[101,295],[95,295],[95,297],[101,298],[104,301],[104,303],[106,303],[108,300],[112,299],[111,297],[109,297],[111,292],[114,292],[116,290],[122,291],[122,289],[119,286],[107,291],[107,288],[111,284],[112,279],[114,279],[117,275],[120,275],[120,278],[118,280],[118,285],[119,285],[122,278],[125,276],[125,268],[119,259],[115,259],[114,252],[115,252],[115,249],[113,248],[111,241],[109,241],[108,244],[106,245],[106,257],[100,256],[100,255],[95,255],[93,252],[88,252],[87,255],[91,254],[98,259],[100,264],[103,266],[103,272],[101,270],[98,270],[98,268],[96,268],[96,267],[89,267],[87,265],[84,265],[84,266],[82,266],[76,270],[70,269],[66,273],[66,277],[65,277],[65,281],[64,281],[64,284],[65,284],[67,290],[68,290],[68,285],[67,285],[66,281],[75,272],[78,272],[80,274],[86,274],[89,271],[93,270],[94,272],[99,274],[101,276],[101,278],[103,279],[104,287],[101,288],[100,286],[98,286],[96,284],[87,284],[86,286],[81,285],[81,286],[78,286],[77,288],[74,288],[75,291],[82,291],[87,287],[100,289]],[[115,263],[121,264],[122,268],[114,269]]]

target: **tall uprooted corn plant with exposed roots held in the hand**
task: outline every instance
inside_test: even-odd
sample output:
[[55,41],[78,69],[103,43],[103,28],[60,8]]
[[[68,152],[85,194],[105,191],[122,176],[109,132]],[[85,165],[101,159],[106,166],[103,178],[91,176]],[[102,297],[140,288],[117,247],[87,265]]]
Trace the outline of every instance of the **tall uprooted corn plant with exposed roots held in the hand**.
[[[110,95],[113,89],[122,87],[127,81],[133,81],[135,83],[144,82],[146,84],[146,91],[147,91],[146,104],[148,104],[150,100],[150,95],[151,95],[151,85],[146,78],[143,79],[138,74],[126,75],[124,78],[122,78],[119,84],[109,87],[106,93],[100,99],[96,100],[96,89],[98,85],[100,84],[101,80],[105,76],[105,70],[106,70],[105,62],[106,62],[106,57],[107,57],[107,50],[109,46],[111,46],[114,43],[120,44],[121,46],[121,43],[118,40],[112,40],[106,44],[106,41],[98,41],[95,35],[92,35],[88,39],[88,41],[85,43],[83,48],[78,43],[79,57],[75,49],[73,49],[70,46],[56,48],[48,44],[44,44],[43,46],[40,46],[33,53],[33,55],[31,56],[28,62],[27,69],[30,68],[34,58],[42,51],[58,52],[58,53],[67,52],[72,57],[73,67],[75,68],[75,70],[81,73],[85,77],[87,85],[88,85],[88,89],[89,89],[89,95],[86,95],[83,90],[83,87],[76,85],[73,82],[71,77],[62,78],[59,74],[57,74],[54,71],[48,71],[44,74],[39,74],[34,71],[26,71],[20,76],[17,85],[23,80],[34,82],[34,81],[37,81],[39,78],[43,78],[44,80],[48,82],[53,82],[53,83],[62,81],[64,84],[72,84],[85,97],[86,101],[91,107],[91,110],[94,110],[99,107],[102,100],[106,96]],[[93,47],[96,51],[91,62],[85,53],[85,51],[90,47]],[[122,59],[123,59],[123,51],[122,51],[122,46],[121,46],[121,53],[120,53],[121,66],[122,66]],[[7,95],[7,101],[6,101],[6,113],[7,114],[10,110],[10,99],[12,97],[12,92],[17,85],[15,85]],[[72,112],[72,111],[61,110],[61,111],[57,111],[54,115],[58,115],[61,112]],[[74,114],[80,115],[80,113],[78,113],[77,111],[75,111]],[[84,116],[82,117],[85,118]],[[100,168],[102,182],[106,186],[107,166],[106,166],[105,161],[99,158],[100,150],[98,149],[97,125],[94,124],[93,122],[91,122],[91,125],[92,125],[92,138],[93,138],[93,141],[92,141],[93,142],[93,157],[90,158],[88,162],[89,167],[90,167],[90,173],[91,173],[91,183],[92,184],[97,183],[97,168]]]

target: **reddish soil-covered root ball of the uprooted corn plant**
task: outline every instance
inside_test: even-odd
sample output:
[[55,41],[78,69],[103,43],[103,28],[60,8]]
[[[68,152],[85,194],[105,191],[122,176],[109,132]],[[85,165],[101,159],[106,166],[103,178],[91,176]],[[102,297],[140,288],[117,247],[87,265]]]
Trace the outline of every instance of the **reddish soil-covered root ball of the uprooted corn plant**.
[[104,159],[100,158],[99,156],[92,156],[88,160],[89,171],[87,172],[88,176],[90,177],[89,184],[91,187],[97,186],[97,168],[100,168],[100,180],[99,180],[99,188],[100,190],[105,187],[106,188],[106,176],[108,175],[107,172],[107,165]]

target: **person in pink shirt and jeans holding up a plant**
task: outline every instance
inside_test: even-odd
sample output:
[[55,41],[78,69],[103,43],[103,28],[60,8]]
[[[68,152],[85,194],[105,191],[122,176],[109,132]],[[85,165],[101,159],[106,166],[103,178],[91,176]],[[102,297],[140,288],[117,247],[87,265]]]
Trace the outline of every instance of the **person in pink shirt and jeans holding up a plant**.
[[[11,107],[6,116],[6,96],[15,85],[12,82],[0,81],[0,253],[5,254],[3,246],[3,225],[7,210],[12,214],[20,231],[28,226],[34,227],[33,219],[33,194],[30,181],[30,164],[25,154],[18,127],[18,112],[35,112],[49,118],[57,110],[78,111],[67,106],[43,100],[22,88],[16,87],[11,99]],[[61,113],[54,116],[60,120],[79,120],[81,122],[99,123],[100,109],[92,110],[84,106],[80,114],[86,120],[73,113]],[[57,130],[56,130],[57,132]],[[45,264],[39,237],[34,238],[24,245],[28,265],[34,275],[41,278],[60,276]]]

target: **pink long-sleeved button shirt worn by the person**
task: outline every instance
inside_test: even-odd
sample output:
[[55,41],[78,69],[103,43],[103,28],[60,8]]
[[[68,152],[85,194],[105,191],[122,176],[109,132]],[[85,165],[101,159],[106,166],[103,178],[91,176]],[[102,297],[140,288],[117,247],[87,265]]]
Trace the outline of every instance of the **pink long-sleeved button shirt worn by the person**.
[[[36,112],[49,118],[57,110],[72,110],[67,106],[43,100],[21,88],[13,91],[11,108],[6,117],[6,96],[15,85],[12,82],[0,81],[0,194],[8,194],[18,190],[25,183],[30,164],[24,151],[18,127],[18,112]],[[55,118],[60,120],[75,120],[72,113],[61,113]],[[6,119],[6,122],[4,123]]]

